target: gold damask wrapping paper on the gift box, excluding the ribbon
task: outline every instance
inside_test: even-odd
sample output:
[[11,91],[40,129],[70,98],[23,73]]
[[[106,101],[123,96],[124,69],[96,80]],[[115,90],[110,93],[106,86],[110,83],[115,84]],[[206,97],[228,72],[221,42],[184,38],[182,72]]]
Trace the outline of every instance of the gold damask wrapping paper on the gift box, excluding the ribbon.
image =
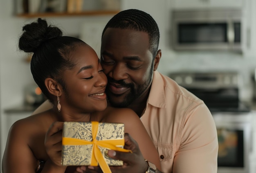
[[[80,140],[76,145],[63,145],[62,148],[62,165],[92,165],[93,144],[83,144],[82,142],[92,141],[92,122],[64,122],[63,139],[69,138],[73,140]],[[96,133],[96,132],[95,132]],[[117,147],[124,147],[124,124],[121,123],[98,123],[97,122],[97,136],[96,140],[100,142],[109,140],[121,140],[122,145]],[[81,144],[81,145],[80,145]],[[95,146],[94,146],[95,147]],[[121,166],[123,161],[109,158],[105,153],[108,148],[98,146],[104,160],[110,166]]]

